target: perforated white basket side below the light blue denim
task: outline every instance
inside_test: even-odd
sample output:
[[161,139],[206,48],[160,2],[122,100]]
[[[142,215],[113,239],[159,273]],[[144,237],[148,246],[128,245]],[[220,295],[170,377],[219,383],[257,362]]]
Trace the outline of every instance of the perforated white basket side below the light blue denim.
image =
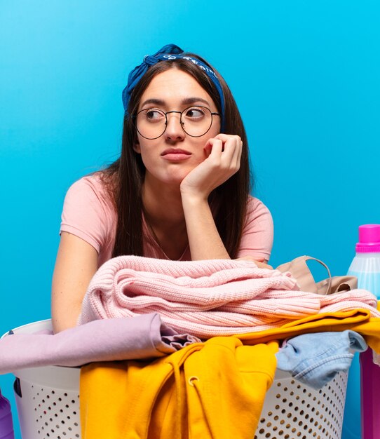
[[340,439],[346,386],[344,373],[320,390],[290,375],[275,379],[266,393],[255,439]]

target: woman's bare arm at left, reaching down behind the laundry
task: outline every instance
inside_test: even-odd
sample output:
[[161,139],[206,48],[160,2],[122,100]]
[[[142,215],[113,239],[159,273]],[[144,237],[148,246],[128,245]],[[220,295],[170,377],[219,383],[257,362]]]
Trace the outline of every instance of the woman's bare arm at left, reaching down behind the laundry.
[[97,251],[78,236],[62,231],[52,283],[54,332],[76,325],[83,296],[97,271]]

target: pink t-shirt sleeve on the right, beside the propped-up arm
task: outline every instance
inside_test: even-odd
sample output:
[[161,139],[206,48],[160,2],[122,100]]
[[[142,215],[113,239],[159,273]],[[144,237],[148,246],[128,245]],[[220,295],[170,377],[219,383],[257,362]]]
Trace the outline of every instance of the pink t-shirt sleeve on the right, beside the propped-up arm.
[[273,245],[273,219],[269,209],[257,198],[247,202],[245,227],[240,241],[238,257],[252,256],[268,261]]

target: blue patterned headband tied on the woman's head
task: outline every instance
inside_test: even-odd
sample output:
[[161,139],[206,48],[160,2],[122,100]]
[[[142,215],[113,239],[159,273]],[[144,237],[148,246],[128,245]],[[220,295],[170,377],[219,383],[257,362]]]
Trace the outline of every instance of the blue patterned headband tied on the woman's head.
[[133,92],[133,89],[135,86],[137,86],[137,83],[139,83],[140,79],[142,79],[142,76],[147,72],[149,67],[151,65],[155,65],[157,62],[165,61],[165,60],[189,60],[193,62],[195,65],[198,65],[205,74],[211,79],[212,83],[214,83],[215,87],[218,90],[219,97],[220,97],[220,105],[222,107],[222,117],[221,117],[221,131],[224,130],[224,95],[222,86],[220,85],[219,79],[217,78],[217,75],[215,72],[210,69],[207,65],[205,65],[204,62],[201,60],[197,60],[196,58],[192,58],[190,56],[181,55],[184,53],[184,51],[179,48],[178,46],[175,46],[175,44],[167,44],[166,46],[163,46],[160,50],[158,50],[157,53],[154,55],[146,55],[144,57],[144,60],[142,61],[142,64],[138,65],[133,69],[130,74],[128,75],[128,83],[127,86],[124,88],[123,93],[121,95],[123,100],[123,107],[124,111],[127,112],[128,110],[128,103],[130,100],[130,95]]

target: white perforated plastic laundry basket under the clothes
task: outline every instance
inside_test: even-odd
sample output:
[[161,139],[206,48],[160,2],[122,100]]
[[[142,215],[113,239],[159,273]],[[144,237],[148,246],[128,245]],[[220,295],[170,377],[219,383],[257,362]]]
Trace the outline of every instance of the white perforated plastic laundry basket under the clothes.
[[[13,332],[51,329],[50,320]],[[14,372],[22,439],[81,438],[79,367],[34,367]],[[255,439],[340,439],[347,375],[337,374],[323,389],[311,389],[277,370]]]

